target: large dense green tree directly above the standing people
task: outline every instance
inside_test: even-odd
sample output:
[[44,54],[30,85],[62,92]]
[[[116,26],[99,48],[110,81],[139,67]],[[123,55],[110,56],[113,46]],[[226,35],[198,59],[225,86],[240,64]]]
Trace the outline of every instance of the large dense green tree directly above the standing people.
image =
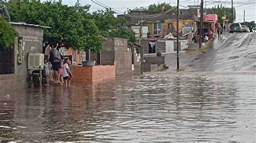
[[[87,45],[98,43],[99,32],[95,33],[90,40],[90,33],[87,33],[84,27],[85,19],[90,17],[90,6],[83,7],[63,5],[61,2],[38,1],[9,1],[4,3],[9,9],[11,19],[16,22],[25,22],[29,24],[38,24],[49,26],[44,29],[44,40],[52,41],[65,38],[65,44],[73,49],[88,49]],[[87,22],[87,21],[86,21]],[[92,24],[92,23],[90,23]],[[95,39],[93,39],[95,38]],[[92,42],[92,43],[88,43]],[[100,51],[102,46],[92,47],[93,50]]]

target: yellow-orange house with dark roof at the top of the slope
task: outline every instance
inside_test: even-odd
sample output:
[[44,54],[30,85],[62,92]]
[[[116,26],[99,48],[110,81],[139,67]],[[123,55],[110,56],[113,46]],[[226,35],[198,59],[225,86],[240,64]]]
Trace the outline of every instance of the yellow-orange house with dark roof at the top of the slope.
[[[179,15],[179,33],[186,34],[194,29],[197,29],[197,10],[184,9],[180,10]],[[123,15],[128,21],[128,28],[136,33],[136,37],[140,37],[140,21],[142,21],[142,35],[148,37],[147,33],[153,36],[163,36],[170,32],[176,35],[177,31],[177,15],[172,12],[149,12],[149,11],[130,11],[129,15]],[[119,15],[122,16],[122,15]],[[134,17],[135,16],[135,17]],[[140,18],[140,16],[142,18]],[[150,17],[151,16],[151,17]]]

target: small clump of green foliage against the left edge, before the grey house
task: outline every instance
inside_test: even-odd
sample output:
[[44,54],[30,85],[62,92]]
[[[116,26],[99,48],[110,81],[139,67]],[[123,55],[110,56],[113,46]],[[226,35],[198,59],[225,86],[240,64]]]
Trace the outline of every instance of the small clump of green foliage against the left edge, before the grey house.
[[16,30],[6,20],[0,18],[0,48],[11,48],[17,36]]

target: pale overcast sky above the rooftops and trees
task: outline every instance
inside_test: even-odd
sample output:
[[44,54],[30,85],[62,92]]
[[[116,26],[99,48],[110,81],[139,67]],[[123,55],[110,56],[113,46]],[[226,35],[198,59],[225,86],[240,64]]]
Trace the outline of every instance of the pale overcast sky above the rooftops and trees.
[[[58,0],[56,0],[58,1]],[[95,0],[94,0],[95,1]],[[170,3],[171,5],[177,5],[177,0],[97,0],[111,8],[115,8],[119,11],[125,11],[127,8],[133,9],[136,6],[147,6],[150,4],[158,4],[158,3]],[[76,0],[62,0],[64,4],[68,5],[75,5],[77,2]],[[99,5],[91,2],[91,0],[80,0],[80,4],[90,4],[91,10],[94,11],[97,9],[102,9]],[[200,4],[200,0],[180,0],[180,5],[187,6],[187,5],[194,5]],[[205,3],[205,0],[204,0]],[[206,7],[212,8],[214,5],[223,4],[226,7],[231,8],[231,0],[206,0]],[[255,0],[233,0],[233,6],[237,12],[237,19],[236,22],[243,22],[244,21],[244,10],[245,10],[245,20],[251,22],[252,20],[256,21],[256,1]],[[205,4],[204,4],[205,6]],[[183,8],[183,7],[180,7]],[[183,8],[184,9],[184,8]]]

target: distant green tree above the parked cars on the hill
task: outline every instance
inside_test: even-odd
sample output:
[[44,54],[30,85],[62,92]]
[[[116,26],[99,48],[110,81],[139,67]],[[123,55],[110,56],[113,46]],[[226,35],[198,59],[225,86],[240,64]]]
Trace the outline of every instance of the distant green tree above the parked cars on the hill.
[[[222,4],[214,6],[212,9],[208,10],[208,13],[216,14],[218,15],[218,22],[220,24],[223,24],[223,17],[228,18],[228,22],[232,22],[232,9],[231,8],[225,8]],[[233,21],[235,21],[235,12],[233,11]]]

